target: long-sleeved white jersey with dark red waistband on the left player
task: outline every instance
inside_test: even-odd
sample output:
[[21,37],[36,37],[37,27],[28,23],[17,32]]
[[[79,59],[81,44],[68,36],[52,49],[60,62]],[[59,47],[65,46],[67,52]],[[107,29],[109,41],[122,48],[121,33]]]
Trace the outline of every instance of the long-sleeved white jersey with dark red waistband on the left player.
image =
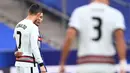
[[43,63],[39,51],[39,29],[31,20],[24,19],[19,22],[15,27],[13,36],[16,40],[18,51],[23,52],[24,56],[21,60],[16,60],[15,66],[34,67],[36,64],[34,62]]

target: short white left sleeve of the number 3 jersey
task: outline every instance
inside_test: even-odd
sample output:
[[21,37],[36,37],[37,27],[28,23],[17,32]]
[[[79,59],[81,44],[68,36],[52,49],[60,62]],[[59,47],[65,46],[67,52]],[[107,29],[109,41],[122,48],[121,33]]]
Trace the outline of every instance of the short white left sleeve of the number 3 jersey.
[[80,30],[80,20],[79,20],[79,13],[78,10],[75,9],[72,13],[70,20],[69,20],[69,27],[74,27],[76,30]]

